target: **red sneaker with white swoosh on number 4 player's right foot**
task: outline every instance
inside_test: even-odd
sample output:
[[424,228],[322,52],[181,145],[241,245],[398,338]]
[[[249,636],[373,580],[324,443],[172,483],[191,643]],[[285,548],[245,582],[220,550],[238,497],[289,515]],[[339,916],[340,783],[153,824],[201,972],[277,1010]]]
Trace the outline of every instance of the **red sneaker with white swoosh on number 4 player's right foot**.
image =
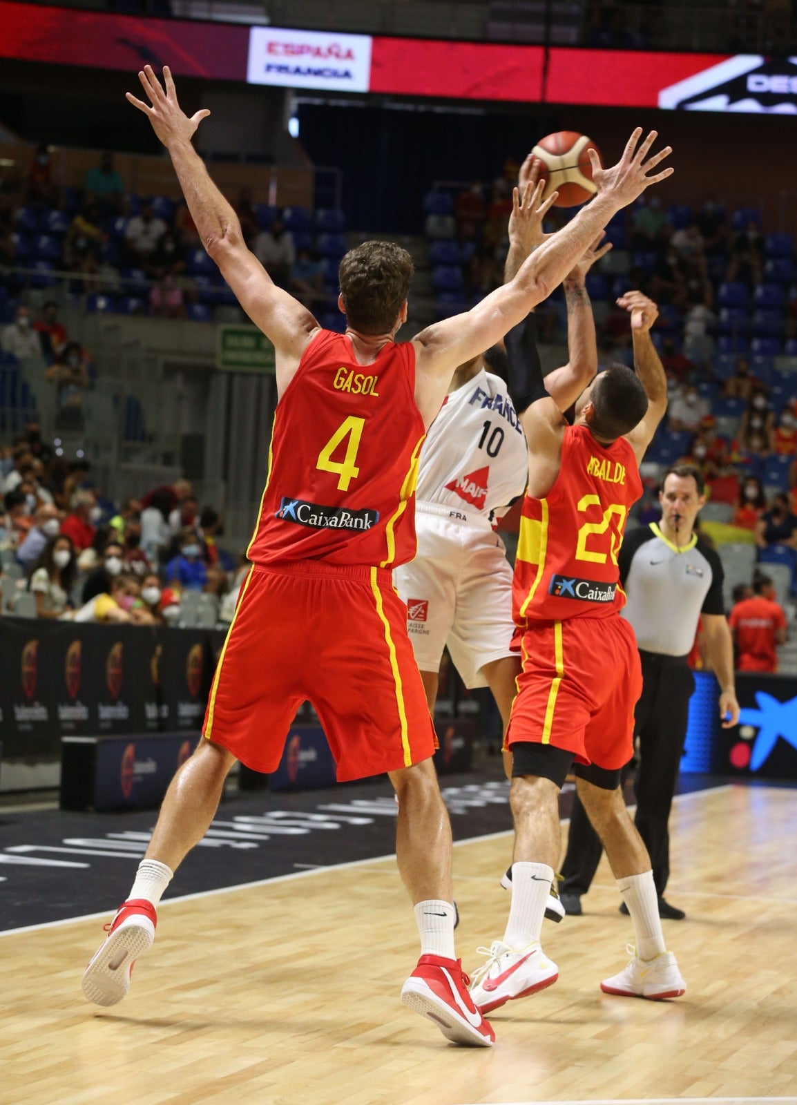
[[454,1043],[492,1048],[495,1033],[476,1009],[468,992],[470,979],[461,959],[421,956],[401,987],[401,1001],[434,1021]]

